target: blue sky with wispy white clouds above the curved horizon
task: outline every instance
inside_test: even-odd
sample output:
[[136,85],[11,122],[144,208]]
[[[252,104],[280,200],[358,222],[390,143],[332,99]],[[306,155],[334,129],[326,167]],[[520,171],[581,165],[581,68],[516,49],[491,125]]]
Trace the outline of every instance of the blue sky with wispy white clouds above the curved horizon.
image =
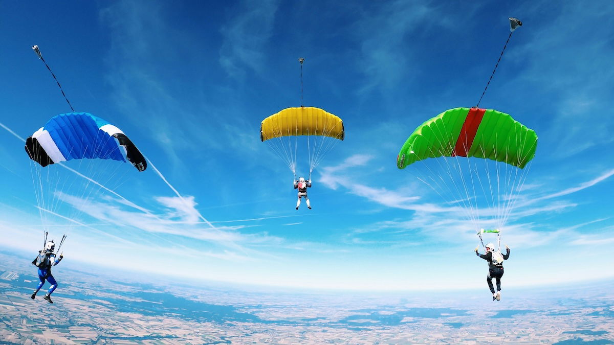
[[[279,287],[483,287],[475,229],[440,212],[440,196],[395,158],[424,120],[475,105],[513,16],[524,26],[480,104],[539,136],[503,235],[513,250],[505,285],[614,274],[602,269],[614,263],[603,255],[614,243],[612,2],[0,6],[9,14],[0,23],[6,246],[34,252],[42,241],[17,137],[69,111],[37,44],[75,109],[117,125],[161,173],[101,168],[93,178],[116,194],[65,190],[72,199],[58,206],[66,218],[52,220],[51,235],[69,233],[66,259]],[[300,106],[298,57],[305,105],[346,128],[314,172],[311,211],[294,209],[292,173],[258,133],[263,118]]]

